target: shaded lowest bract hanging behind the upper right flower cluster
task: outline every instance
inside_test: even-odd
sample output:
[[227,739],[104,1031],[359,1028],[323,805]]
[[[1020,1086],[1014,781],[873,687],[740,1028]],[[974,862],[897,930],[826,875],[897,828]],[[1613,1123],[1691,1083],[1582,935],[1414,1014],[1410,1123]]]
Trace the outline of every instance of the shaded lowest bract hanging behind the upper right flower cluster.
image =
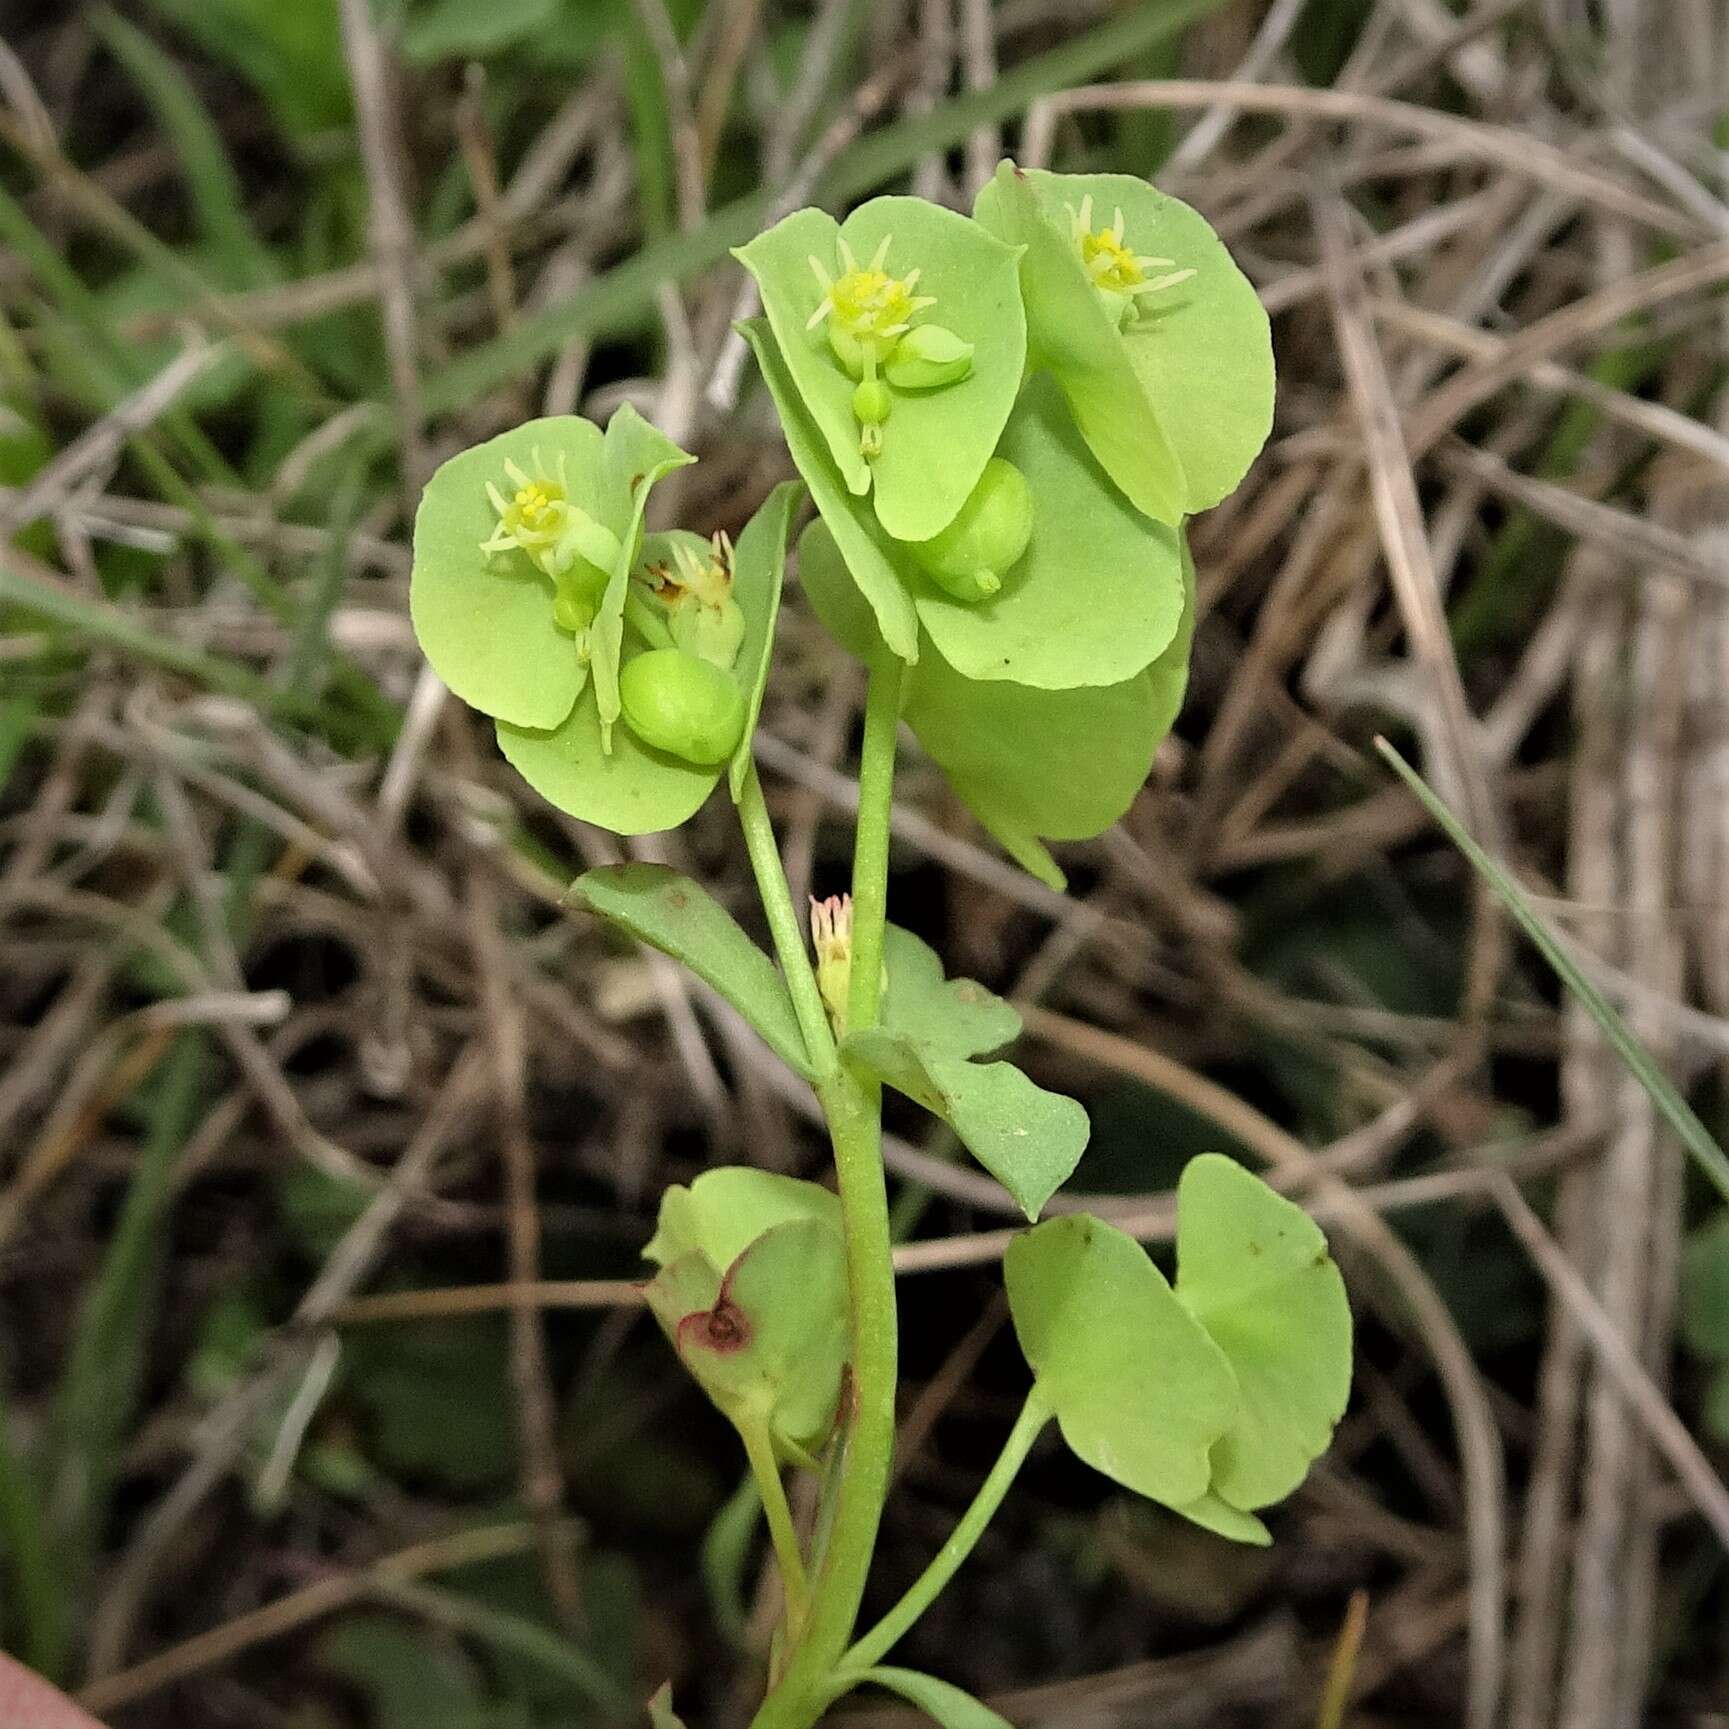
[[[927,641],[908,674],[906,723],[954,792],[1005,851],[1063,887],[1041,837],[1088,840],[1134,802],[1188,686],[1195,572],[1183,557],[1183,617],[1171,647],[1120,685],[1034,690],[961,678]],[[851,654],[882,652],[826,522],[799,541],[799,581],[816,616]]]

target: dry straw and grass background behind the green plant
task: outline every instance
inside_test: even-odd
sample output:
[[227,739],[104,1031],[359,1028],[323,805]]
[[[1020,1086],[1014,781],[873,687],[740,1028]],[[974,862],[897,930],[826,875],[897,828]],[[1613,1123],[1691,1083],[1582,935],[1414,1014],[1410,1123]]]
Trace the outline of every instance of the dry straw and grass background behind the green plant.
[[[434,10],[341,0],[337,118],[292,144],[182,7],[5,10],[0,403],[48,439],[0,493],[9,1648],[116,1729],[389,1729],[417,1665],[451,1726],[622,1722],[666,1674],[747,1720],[699,1568],[731,1463],[628,1281],[664,1183],[811,1169],[811,1101],[560,904],[617,844],[420,666],[408,520],[456,448],[633,401],[702,456],[662,515],[737,529],[790,470],[726,246],[965,202],[1013,150],[1214,221],[1279,418],[1195,526],[1191,700],[1075,892],[913,754],[897,906],[1094,1110],[1091,1205],[1157,1241],[1203,1145],[1312,1203],[1362,1366],[1271,1558],[1053,1456],[908,1660],[1029,1729],[1729,1724],[1703,1186],[1373,750],[1719,1122],[1722,0],[564,0],[593,52],[557,64],[538,26],[429,50]],[[859,697],[794,603],[761,759],[795,892],[842,878]],[[724,799],[633,851],[747,906]],[[884,1591],[1015,1385],[1013,1205],[894,1127]]]

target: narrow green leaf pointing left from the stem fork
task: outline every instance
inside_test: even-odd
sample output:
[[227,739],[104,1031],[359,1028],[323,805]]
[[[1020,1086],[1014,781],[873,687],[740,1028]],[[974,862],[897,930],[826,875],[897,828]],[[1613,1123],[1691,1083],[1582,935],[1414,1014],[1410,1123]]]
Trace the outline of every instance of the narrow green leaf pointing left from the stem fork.
[[756,1027],[788,1069],[814,1079],[775,963],[707,889],[664,864],[603,864],[577,877],[571,897],[688,967]]

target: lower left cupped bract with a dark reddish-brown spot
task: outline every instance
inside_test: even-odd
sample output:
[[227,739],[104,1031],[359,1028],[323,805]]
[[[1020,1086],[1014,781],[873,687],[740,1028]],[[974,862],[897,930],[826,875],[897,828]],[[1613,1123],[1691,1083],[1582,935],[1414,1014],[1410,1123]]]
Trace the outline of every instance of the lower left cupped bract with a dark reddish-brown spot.
[[705,1171],[666,1191],[643,1254],[659,1267],[648,1307],[704,1392],[809,1463],[847,1354],[840,1202],[768,1171]]

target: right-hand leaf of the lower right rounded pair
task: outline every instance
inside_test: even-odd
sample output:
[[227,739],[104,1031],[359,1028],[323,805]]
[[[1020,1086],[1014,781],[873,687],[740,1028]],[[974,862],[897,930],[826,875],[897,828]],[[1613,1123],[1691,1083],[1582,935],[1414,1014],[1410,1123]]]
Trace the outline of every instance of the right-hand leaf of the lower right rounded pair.
[[1235,1160],[1190,1160],[1177,1302],[1224,1352],[1241,1399],[1212,1451],[1214,1494],[1245,1511],[1283,1501],[1350,1395],[1350,1302],[1321,1228]]

